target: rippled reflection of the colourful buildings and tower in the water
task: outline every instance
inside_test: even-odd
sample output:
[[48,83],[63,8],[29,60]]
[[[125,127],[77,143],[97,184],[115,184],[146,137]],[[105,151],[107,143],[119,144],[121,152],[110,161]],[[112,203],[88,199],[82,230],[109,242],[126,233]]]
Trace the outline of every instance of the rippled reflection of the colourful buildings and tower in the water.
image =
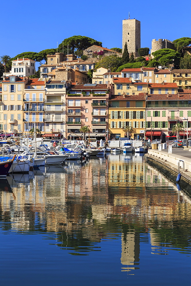
[[111,154],[83,166],[74,161],[46,168],[34,178],[7,178],[1,184],[0,207],[12,230],[61,232],[63,244],[65,236],[80,244],[80,239],[100,242],[120,229],[122,271],[139,265],[140,229],[152,247],[160,246],[156,226],[165,222],[173,228],[174,218],[191,213],[190,197],[139,154]]

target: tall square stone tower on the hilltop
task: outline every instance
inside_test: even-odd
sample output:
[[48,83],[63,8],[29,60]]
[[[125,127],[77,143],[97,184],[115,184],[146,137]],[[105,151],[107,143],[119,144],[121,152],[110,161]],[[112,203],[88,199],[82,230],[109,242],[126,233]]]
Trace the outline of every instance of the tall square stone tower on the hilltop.
[[129,55],[133,52],[139,57],[138,49],[141,47],[141,22],[136,19],[123,20],[122,51],[127,42]]

